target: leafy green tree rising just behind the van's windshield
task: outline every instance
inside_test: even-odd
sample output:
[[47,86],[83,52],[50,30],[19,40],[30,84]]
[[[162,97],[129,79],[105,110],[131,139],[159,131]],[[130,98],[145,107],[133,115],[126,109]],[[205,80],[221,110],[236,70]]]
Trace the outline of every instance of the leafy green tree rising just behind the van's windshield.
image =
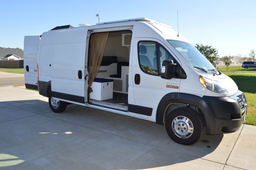
[[213,48],[212,45],[196,44],[195,47],[206,57],[211,63],[215,60],[218,50]]

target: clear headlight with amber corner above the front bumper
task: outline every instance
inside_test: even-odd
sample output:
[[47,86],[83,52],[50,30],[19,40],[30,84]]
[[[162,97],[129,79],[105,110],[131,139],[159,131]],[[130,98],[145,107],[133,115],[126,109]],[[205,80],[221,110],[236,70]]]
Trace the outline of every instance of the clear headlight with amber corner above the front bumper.
[[227,89],[219,81],[207,79],[202,75],[200,75],[199,81],[204,87],[211,91],[218,93],[228,93]]

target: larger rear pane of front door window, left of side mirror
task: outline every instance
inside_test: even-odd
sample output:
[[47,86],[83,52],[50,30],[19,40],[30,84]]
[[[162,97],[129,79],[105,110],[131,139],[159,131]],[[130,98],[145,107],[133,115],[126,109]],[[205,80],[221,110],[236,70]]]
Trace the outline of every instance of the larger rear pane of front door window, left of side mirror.
[[158,75],[156,42],[143,41],[138,44],[140,68],[143,72]]

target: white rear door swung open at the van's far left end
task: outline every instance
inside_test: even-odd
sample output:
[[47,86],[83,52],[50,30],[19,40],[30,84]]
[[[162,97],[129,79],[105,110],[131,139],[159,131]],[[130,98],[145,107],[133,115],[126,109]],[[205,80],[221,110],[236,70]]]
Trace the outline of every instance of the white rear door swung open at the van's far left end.
[[37,52],[40,36],[24,37],[24,73],[28,89],[37,90]]

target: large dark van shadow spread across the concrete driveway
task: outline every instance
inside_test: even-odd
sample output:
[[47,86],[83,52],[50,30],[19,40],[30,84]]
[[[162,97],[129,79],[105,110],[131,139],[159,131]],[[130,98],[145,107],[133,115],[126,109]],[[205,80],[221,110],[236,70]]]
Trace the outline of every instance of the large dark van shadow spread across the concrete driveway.
[[230,153],[223,148],[232,150],[219,145],[223,135],[204,135],[184,146],[173,142],[164,126],[75,104],[63,113],[51,112],[41,100],[0,104],[0,118],[9,113],[0,123],[1,153],[24,160],[11,166],[17,169],[145,169],[197,158],[223,163]]

